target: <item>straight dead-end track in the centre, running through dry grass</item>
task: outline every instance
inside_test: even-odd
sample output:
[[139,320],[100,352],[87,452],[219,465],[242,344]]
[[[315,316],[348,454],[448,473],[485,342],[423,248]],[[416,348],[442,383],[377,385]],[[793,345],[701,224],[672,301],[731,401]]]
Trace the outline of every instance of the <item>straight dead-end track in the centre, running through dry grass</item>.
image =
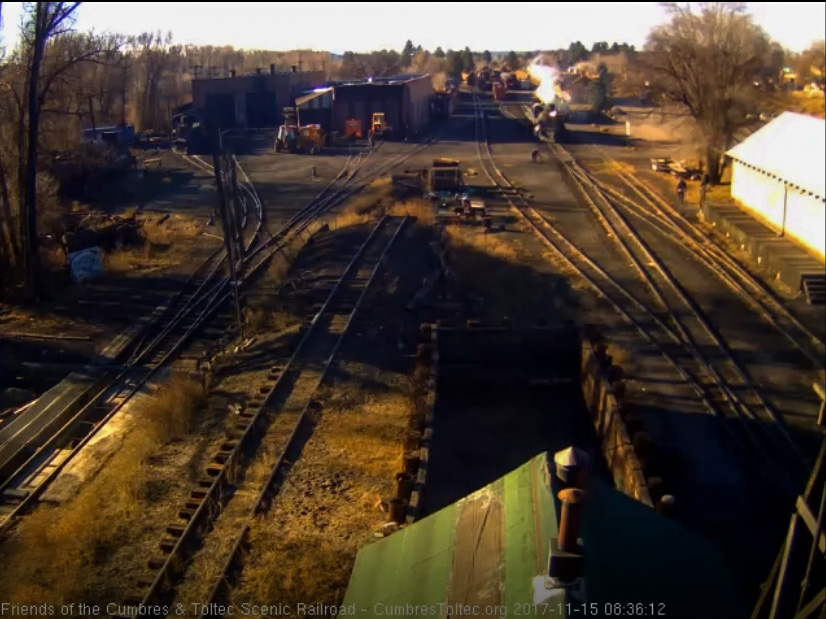
[[[185,614],[194,604],[225,599],[242,564],[251,520],[266,511],[290,467],[300,458],[312,433],[314,397],[332,367],[335,356],[360,309],[381,265],[400,236],[407,217],[385,215],[358,248],[317,313],[303,328],[303,336],[289,358],[270,359],[268,383],[256,386],[238,415],[226,442],[207,467],[160,543],[165,556],[149,561],[155,569],[139,585],[145,589],[124,601],[124,607],[166,604]],[[273,420],[278,421],[275,428]],[[255,454],[277,453],[271,471],[249,467]],[[232,533],[235,533],[234,535]],[[211,590],[173,598],[175,585],[186,577],[190,559],[202,553],[223,566]],[[197,614],[203,614],[197,613]]]

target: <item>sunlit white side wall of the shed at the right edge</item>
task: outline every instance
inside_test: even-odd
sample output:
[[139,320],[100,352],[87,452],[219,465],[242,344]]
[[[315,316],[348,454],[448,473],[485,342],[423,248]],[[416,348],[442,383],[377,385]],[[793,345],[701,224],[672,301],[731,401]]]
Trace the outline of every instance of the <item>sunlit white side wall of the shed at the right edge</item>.
[[763,223],[817,254],[826,255],[826,201],[801,193],[781,180],[739,161],[732,169],[731,195]]

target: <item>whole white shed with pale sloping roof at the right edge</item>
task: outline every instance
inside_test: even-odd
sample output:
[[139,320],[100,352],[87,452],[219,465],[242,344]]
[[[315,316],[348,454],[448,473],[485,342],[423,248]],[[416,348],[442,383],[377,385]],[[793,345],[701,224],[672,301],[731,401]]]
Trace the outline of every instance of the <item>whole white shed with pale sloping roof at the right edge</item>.
[[824,260],[826,121],[785,112],[727,154],[733,160],[732,196]]

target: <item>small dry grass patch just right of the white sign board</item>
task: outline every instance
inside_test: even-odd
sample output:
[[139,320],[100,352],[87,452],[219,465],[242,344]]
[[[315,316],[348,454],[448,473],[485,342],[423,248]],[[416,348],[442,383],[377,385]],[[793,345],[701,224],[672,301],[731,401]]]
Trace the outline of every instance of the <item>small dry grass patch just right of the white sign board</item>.
[[143,246],[109,252],[104,258],[107,272],[147,274],[176,266],[204,230],[203,223],[196,218],[178,213],[168,217],[153,214],[141,219]]

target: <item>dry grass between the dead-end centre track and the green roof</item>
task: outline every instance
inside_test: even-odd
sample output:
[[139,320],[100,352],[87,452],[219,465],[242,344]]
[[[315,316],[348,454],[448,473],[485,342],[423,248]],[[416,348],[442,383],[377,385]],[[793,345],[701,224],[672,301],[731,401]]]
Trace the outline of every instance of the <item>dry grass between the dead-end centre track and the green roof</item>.
[[374,393],[339,384],[333,394],[271,515],[252,530],[241,599],[340,602],[356,553],[387,520],[376,505],[401,466],[409,381]]

